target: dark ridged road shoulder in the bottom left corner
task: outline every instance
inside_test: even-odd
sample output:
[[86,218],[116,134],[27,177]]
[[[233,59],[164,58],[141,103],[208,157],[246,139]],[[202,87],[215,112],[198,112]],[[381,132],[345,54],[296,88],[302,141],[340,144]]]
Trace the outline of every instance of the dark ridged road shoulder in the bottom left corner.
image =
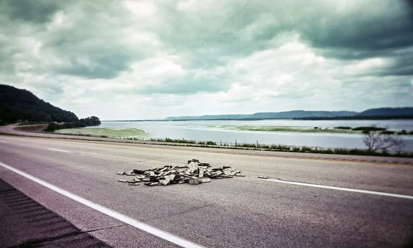
[[0,179],[1,247],[109,247]]

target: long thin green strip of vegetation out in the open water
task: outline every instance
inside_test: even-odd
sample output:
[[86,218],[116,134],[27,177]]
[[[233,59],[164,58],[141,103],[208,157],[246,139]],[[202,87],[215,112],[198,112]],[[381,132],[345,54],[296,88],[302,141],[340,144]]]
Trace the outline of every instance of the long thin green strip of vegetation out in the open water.
[[302,133],[333,133],[333,134],[361,134],[360,131],[338,130],[338,129],[321,129],[308,127],[273,127],[273,126],[248,126],[248,125],[211,125],[211,128],[219,128],[224,130],[239,130],[239,131],[263,131],[263,132],[302,132]]

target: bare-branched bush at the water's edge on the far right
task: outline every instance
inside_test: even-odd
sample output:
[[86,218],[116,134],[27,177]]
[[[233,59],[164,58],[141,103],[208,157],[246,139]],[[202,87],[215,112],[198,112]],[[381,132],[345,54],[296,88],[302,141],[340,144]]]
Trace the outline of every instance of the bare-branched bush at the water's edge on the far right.
[[[376,125],[372,125],[372,127],[376,127]],[[387,130],[387,127],[385,129]],[[385,151],[386,149],[401,152],[405,146],[403,138],[382,131],[366,132],[363,135],[363,143],[367,146],[369,152]]]

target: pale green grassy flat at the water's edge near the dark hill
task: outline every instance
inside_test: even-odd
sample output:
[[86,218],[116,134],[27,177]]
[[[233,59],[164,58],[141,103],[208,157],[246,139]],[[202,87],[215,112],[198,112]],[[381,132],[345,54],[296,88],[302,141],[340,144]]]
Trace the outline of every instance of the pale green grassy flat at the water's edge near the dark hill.
[[108,138],[147,138],[149,135],[136,128],[70,128],[63,130],[56,130],[56,133],[61,134],[90,134],[92,136],[107,136]]

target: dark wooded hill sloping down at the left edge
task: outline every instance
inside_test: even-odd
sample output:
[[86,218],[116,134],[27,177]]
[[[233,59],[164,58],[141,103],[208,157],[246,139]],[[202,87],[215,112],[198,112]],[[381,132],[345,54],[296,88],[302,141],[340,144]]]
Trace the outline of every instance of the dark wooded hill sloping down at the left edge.
[[78,121],[78,117],[46,103],[28,90],[0,85],[0,121],[14,123],[17,120],[72,122]]

